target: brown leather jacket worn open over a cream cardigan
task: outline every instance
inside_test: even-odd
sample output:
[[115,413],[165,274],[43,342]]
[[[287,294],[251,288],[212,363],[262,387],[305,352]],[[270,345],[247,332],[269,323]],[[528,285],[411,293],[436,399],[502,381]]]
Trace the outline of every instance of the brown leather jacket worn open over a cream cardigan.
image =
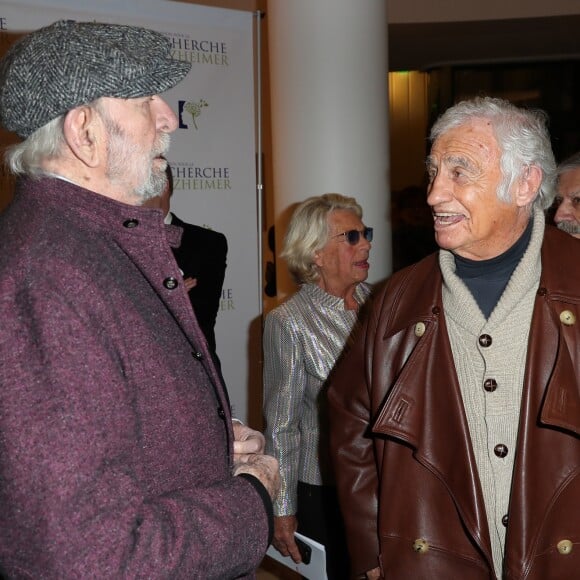
[[[329,389],[356,575],[495,578],[434,254],[377,294]],[[547,227],[507,521],[505,580],[580,578],[580,241]]]

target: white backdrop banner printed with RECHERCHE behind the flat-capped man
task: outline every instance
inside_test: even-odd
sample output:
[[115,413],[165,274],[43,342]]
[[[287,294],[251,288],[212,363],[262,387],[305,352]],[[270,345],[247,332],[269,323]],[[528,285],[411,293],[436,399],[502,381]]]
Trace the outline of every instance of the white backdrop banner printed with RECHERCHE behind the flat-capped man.
[[260,320],[253,14],[166,0],[0,0],[2,52],[15,34],[62,18],[153,28],[170,38],[175,58],[192,62],[163,95],[179,120],[169,154],[172,210],[228,239],[217,351],[234,414],[247,420],[250,333]]

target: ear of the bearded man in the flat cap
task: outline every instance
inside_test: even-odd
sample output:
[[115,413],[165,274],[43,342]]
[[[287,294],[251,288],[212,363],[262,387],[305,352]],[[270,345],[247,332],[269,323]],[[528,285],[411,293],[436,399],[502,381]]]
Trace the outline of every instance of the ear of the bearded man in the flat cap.
[[94,108],[81,105],[64,118],[64,138],[74,156],[89,167],[99,165],[103,138],[101,119]]

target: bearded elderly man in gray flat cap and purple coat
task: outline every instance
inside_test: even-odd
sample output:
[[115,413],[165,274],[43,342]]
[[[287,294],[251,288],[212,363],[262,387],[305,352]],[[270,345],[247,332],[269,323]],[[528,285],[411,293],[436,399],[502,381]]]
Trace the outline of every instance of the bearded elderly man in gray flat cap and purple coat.
[[250,576],[275,459],[232,425],[171,252],[165,184],[188,73],[146,29],[61,21],[0,62],[23,141],[0,216],[0,576]]

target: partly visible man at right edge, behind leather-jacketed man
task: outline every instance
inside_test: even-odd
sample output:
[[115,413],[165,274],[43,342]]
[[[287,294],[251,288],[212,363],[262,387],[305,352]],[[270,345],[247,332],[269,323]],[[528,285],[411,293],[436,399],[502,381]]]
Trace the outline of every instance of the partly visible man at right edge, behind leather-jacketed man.
[[563,232],[580,238],[580,152],[558,166],[554,222]]

